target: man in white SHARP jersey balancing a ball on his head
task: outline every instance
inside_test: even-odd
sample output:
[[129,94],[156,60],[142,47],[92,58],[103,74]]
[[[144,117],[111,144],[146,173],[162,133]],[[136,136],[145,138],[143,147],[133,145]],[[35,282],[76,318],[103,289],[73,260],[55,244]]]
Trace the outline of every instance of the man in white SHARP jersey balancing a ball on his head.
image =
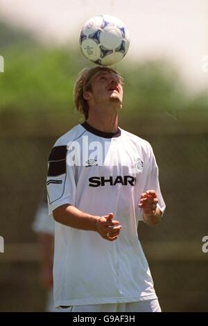
[[122,98],[114,69],[81,71],[74,101],[85,122],[49,157],[54,298],[62,311],[161,311],[137,225],[159,223],[165,204],[150,144],[118,128]]

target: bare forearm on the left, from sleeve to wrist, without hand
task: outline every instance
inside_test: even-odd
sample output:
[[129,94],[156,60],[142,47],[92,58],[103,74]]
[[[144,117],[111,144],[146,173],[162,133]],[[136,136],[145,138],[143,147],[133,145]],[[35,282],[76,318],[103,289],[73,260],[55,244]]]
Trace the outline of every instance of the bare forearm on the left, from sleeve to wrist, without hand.
[[101,216],[94,216],[80,211],[71,205],[62,205],[53,211],[53,218],[56,222],[80,230],[96,231],[96,221]]

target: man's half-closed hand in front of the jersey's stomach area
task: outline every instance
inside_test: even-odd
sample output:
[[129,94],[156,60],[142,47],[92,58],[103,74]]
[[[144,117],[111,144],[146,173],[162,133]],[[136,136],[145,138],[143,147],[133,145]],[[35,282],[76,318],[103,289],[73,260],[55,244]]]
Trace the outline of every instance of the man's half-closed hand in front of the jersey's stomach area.
[[119,233],[122,229],[119,221],[113,221],[114,214],[110,213],[106,216],[101,216],[96,221],[97,232],[101,237],[108,241],[114,241],[119,237]]

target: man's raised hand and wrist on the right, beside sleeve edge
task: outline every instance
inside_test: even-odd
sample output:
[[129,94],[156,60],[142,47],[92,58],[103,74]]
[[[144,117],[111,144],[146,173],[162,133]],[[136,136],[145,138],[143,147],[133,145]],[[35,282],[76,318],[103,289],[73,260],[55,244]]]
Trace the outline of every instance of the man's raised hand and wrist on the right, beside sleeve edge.
[[139,207],[144,212],[144,222],[148,225],[156,225],[159,223],[162,212],[157,207],[158,199],[155,190],[148,190],[141,195]]

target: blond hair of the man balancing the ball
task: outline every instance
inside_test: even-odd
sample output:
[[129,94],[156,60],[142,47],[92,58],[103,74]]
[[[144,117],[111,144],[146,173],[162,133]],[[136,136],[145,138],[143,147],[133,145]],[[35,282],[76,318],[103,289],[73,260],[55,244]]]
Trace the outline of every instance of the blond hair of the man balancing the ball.
[[123,83],[121,75],[110,67],[86,67],[80,71],[73,87],[73,101],[75,103],[76,111],[83,113],[85,119],[88,118],[89,105],[87,100],[85,100],[83,93],[86,91],[92,91],[92,78],[100,71],[116,74],[119,77],[121,84]]

